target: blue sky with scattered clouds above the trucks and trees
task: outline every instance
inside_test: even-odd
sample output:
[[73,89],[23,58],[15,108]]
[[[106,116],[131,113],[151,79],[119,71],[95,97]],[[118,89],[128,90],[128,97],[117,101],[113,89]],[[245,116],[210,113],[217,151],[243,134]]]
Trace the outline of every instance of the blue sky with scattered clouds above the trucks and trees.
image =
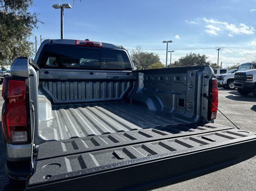
[[172,61],[192,52],[217,62],[213,47],[236,48],[220,51],[224,67],[256,60],[256,0],[34,0],[31,11],[44,22],[34,31],[38,39],[60,38],[60,10],[52,8],[58,3],[72,6],[64,10],[65,39],[88,38],[128,49],[141,45],[156,49],[144,51],[157,53],[162,63],[163,40],[173,41]]

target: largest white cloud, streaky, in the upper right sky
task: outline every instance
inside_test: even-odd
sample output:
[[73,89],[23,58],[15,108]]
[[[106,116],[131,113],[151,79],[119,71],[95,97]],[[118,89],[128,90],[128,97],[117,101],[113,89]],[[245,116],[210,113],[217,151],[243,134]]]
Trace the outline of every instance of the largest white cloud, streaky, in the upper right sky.
[[244,23],[237,24],[229,24],[227,22],[222,22],[214,19],[203,18],[206,25],[207,30],[205,32],[210,35],[217,35],[218,31],[228,31],[228,36],[232,37],[234,34],[254,34],[255,30],[252,26],[247,26]]

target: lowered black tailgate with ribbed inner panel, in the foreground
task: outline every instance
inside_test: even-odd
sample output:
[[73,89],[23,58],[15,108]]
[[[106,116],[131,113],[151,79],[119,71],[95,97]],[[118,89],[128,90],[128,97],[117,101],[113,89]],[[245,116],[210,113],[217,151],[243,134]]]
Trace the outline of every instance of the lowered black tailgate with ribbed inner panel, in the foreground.
[[46,142],[26,190],[150,190],[256,155],[256,133],[216,124]]

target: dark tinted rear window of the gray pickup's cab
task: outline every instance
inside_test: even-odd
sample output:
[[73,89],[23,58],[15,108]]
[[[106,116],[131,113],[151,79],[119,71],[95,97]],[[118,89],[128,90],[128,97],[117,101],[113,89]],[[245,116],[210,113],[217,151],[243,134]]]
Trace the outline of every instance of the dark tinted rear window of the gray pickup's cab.
[[124,50],[66,44],[45,45],[38,65],[42,68],[132,70]]

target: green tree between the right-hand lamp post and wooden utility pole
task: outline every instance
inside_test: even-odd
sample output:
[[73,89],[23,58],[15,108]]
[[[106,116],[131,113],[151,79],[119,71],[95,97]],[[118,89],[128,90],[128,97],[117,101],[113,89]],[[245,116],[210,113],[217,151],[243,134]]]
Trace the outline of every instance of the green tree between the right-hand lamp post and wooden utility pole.
[[209,61],[206,61],[208,57],[206,55],[200,55],[196,53],[189,53],[186,56],[179,59],[179,63],[190,65],[210,65]]

